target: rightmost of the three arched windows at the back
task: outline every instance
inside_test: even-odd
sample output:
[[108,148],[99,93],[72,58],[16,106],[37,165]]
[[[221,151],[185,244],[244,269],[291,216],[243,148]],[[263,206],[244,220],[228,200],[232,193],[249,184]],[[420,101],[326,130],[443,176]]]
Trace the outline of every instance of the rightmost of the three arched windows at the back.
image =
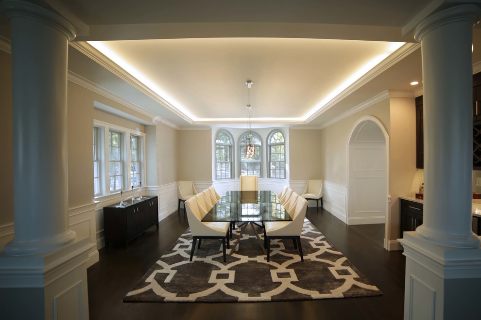
[[286,178],[286,148],[284,134],[276,129],[267,137],[268,175],[270,178]]

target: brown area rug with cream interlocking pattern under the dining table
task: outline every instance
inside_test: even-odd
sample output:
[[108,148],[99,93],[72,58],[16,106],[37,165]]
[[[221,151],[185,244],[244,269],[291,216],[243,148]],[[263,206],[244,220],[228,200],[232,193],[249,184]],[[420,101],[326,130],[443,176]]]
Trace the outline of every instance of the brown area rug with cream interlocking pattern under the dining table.
[[[240,228],[234,230],[231,248],[239,233]],[[272,240],[267,262],[250,226],[245,233],[226,262],[222,242],[205,239],[189,262],[192,237],[186,230],[123,301],[254,302],[382,295],[307,219],[301,236],[304,262],[292,240]],[[262,234],[260,228],[258,233]]]

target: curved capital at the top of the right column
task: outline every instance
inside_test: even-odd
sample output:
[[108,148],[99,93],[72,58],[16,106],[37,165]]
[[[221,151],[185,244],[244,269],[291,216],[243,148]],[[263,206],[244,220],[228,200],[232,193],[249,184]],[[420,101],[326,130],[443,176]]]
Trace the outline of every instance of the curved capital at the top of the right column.
[[449,7],[422,20],[414,30],[414,39],[421,42],[426,33],[452,22],[466,21],[474,25],[480,16],[481,7],[477,4],[469,3]]

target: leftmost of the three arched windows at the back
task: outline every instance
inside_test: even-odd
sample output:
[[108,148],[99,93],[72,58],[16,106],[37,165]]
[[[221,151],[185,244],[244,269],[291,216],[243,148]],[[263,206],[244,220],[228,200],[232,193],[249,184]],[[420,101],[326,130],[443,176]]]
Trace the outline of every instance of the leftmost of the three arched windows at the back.
[[225,130],[220,130],[215,136],[215,178],[232,178],[232,136]]

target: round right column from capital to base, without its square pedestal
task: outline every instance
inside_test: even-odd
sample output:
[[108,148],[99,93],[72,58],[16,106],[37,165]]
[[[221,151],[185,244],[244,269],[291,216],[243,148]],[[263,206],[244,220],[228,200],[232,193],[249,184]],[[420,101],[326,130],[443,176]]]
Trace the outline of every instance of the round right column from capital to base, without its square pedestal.
[[424,211],[417,233],[449,247],[477,247],[472,206],[472,28],[479,7],[463,5],[421,22]]

